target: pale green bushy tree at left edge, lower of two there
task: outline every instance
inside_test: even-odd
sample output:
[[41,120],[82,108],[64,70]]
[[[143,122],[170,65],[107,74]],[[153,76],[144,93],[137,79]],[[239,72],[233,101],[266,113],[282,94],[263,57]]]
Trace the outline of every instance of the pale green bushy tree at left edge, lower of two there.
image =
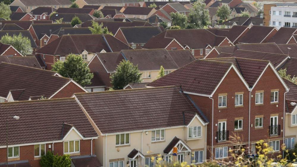
[[1,43],[12,45],[23,55],[32,54],[33,49],[31,47],[31,41],[28,37],[23,37],[22,33],[18,35],[9,36],[8,33],[2,36]]

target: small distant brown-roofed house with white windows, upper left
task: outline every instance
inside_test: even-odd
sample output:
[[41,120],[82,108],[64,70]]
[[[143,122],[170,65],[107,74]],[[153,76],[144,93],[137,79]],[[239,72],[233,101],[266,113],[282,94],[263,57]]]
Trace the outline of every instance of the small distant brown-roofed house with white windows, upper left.
[[49,20],[49,16],[52,12],[56,12],[56,9],[53,7],[37,7],[30,13],[35,18],[35,20]]

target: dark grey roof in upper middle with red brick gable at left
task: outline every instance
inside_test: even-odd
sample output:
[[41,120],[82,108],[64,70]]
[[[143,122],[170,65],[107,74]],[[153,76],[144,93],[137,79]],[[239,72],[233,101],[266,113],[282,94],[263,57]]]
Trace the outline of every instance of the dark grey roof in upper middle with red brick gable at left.
[[146,43],[152,36],[162,32],[158,26],[151,27],[120,27],[128,43]]

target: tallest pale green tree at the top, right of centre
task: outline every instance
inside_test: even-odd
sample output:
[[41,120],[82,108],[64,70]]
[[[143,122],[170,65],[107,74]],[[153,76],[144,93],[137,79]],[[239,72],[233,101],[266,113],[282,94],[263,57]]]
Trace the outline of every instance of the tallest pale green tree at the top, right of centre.
[[189,22],[195,23],[198,28],[210,25],[209,11],[205,6],[203,0],[197,0],[188,15]]

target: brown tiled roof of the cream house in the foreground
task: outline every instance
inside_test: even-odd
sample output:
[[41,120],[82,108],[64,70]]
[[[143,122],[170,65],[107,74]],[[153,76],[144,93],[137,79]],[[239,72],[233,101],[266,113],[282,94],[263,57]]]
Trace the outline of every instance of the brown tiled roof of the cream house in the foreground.
[[198,114],[194,104],[175,86],[75,96],[103,134],[188,125]]

